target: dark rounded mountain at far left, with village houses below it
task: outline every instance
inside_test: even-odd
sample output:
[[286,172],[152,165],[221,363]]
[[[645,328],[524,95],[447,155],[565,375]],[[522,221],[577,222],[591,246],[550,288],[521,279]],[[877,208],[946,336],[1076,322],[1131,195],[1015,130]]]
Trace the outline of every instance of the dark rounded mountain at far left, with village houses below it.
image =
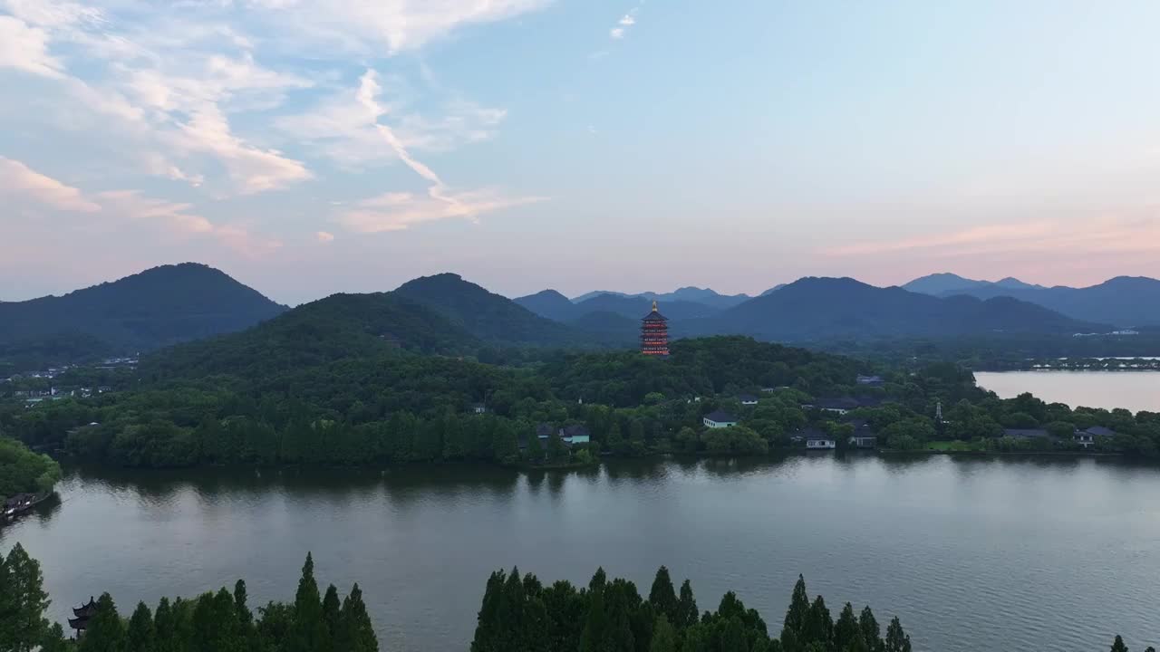
[[60,297],[0,303],[0,348],[56,338],[148,350],[248,328],[285,310],[220,270],[168,265]]

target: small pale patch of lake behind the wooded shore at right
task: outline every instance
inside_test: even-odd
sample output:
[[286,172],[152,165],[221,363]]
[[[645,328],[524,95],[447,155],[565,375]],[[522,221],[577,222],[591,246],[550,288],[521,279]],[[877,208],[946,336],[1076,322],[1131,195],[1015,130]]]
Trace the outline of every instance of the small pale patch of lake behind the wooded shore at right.
[[1031,392],[1072,407],[1160,412],[1160,371],[977,371],[974,378],[1000,398]]

